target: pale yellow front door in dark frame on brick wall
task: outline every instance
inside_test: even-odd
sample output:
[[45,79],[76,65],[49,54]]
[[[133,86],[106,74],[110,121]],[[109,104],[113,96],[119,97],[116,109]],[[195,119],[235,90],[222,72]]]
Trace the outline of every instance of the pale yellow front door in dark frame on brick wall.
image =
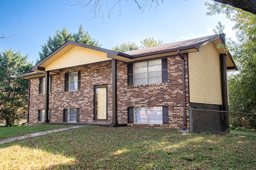
[[107,119],[107,85],[94,86],[95,119]]

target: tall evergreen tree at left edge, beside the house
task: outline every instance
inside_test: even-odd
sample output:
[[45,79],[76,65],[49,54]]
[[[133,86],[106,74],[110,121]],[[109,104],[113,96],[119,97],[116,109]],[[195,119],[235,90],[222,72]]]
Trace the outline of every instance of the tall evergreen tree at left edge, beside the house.
[[27,110],[28,82],[16,78],[32,67],[27,58],[11,49],[0,53],[0,122],[7,127],[18,123]]

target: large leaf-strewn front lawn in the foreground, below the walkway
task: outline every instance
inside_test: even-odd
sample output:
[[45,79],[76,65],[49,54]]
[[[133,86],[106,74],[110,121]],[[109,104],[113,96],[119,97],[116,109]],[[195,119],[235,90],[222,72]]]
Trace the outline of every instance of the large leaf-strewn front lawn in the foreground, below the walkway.
[[88,126],[0,145],[0,169],[255,169],[256,133]]

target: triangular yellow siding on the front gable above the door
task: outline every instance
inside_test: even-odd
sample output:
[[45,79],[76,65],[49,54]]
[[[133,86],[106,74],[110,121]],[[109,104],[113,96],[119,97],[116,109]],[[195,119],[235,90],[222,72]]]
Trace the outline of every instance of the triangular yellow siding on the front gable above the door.
[[101,61],[110,60],[107,58],[107,54],[95,51],[92,49],[86,49],[83,47],[74,46],[68,52],[61,57],[58,57],[55,61],[45,67],[45,70],[55,70],[60,68],[67,68],[72,66],[78,66],[83,64],[97,63]]

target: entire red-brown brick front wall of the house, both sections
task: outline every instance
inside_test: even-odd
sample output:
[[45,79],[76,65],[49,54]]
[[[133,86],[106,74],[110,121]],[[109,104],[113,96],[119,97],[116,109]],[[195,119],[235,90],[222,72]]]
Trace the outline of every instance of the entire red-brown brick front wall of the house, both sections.
[[[186,65],[186,117],[189,125],[188,64]],[[95,73],[97,69],[97,73]],[[65,92],[65,73],[81,71],[81,90]],[[39,78],[30,79],[29,124],[38,124],[38,110],[44,109],[44,94],[39,94]],[[118,123],[128,123],[128,107],[168,106],[169,125],[156,127],[183,127],[182,60],[168,58],[168,83],[128,85],[127,64],[117,63]],[[108,84],[108,120],[94,121],[94,86]],[[63,109],[80,109],[80,122],[112,122],[112,62],[86,64],[60,70],[52,76],[52,93],[49,94],[49,109],[52,122],[63,122]],[[135,125],[135,124],[128,124]],[[146,126],[136,124],[136,126]]]

